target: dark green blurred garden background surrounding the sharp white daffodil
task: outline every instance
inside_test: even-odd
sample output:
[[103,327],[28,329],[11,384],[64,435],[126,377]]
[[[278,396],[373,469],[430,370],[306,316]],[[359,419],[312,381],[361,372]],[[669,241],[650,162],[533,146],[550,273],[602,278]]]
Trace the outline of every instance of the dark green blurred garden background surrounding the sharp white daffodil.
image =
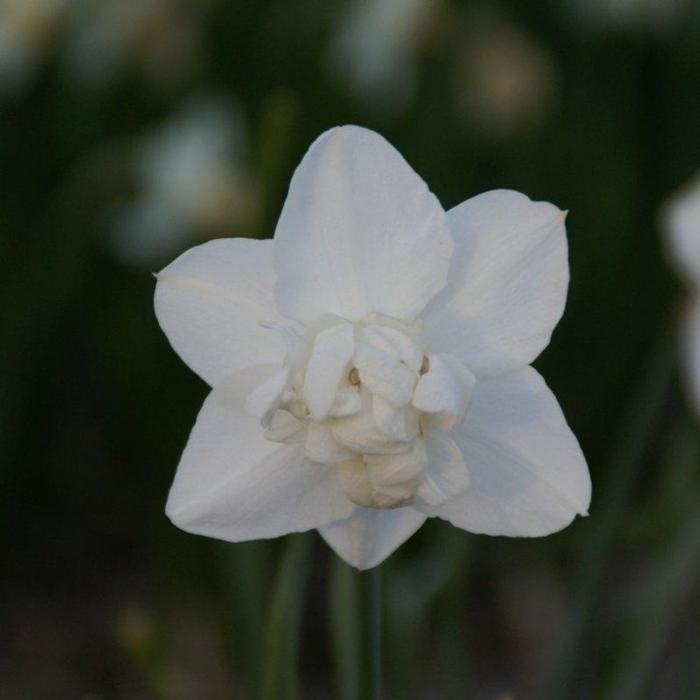
[[387,699],[700,697],[692,292],[660,216],[700,168],[699,2],[0,0],[0,698],[366,697],[364,581],[316,533],[165,518],[207,387],[152,310],[182,251],[271,236],[343,123],[446,208],[570,210],[536,366],[594,484],[551,537],[430,521],[390,558]]

